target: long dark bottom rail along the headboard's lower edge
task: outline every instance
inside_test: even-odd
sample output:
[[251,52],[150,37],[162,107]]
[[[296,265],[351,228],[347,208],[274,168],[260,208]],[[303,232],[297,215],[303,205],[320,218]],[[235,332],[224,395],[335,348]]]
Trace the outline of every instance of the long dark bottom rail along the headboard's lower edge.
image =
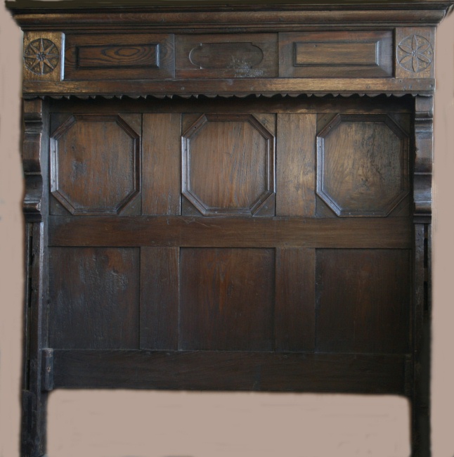
[[54,351],[54,387],[404,394],[403,354]]

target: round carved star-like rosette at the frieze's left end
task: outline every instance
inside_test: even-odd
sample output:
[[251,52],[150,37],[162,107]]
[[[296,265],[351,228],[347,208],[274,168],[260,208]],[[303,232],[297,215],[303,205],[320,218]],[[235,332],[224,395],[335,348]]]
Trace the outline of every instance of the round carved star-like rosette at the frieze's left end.
[[50,39],[34,39],[24,52],[24,63],[27,70],[35,75],[48,75],[53,72],[60,60],[60,51]]

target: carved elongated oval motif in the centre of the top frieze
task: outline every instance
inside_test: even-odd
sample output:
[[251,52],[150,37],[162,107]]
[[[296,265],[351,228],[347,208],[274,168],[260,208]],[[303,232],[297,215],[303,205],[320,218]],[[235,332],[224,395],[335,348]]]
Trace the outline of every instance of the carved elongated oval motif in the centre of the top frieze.
[[189,59],[200,69],[249,70],[264,60],[264,53],[252,43],[200,43],[190,51]]

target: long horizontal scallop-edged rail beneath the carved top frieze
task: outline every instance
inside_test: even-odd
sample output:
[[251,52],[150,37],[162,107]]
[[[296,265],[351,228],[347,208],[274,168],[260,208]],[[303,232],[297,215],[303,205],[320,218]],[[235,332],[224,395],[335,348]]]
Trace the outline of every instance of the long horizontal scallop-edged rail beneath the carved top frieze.
[[25,96],[35,94],[49,96],[106,96],[125,94],[130,96],[250,96],[264,95],[298,96],[301,94],[380,94],[403,96],[432,95],[435,79],[394,79],[394,78],[228,78],[228,79],[182,79],[150,81],[146,79],[106,79],[105,81],[62,81],[58,85],[46,81],[24,81]]

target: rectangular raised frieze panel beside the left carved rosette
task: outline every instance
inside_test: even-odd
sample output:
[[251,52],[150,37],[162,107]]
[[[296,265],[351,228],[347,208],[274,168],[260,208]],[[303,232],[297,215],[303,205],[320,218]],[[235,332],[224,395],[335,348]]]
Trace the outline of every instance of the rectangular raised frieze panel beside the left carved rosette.
[[67,34],[65,79],[167,79],[175,75],[172,34]]

